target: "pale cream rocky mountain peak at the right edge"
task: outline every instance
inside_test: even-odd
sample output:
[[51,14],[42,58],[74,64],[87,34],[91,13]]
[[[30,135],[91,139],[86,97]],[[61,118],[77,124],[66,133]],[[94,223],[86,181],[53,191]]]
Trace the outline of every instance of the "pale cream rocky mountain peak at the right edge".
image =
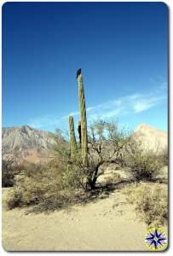
[[160,152],[168,148],[168,133],[144,123],[137,126],[134,137],[146,150]]

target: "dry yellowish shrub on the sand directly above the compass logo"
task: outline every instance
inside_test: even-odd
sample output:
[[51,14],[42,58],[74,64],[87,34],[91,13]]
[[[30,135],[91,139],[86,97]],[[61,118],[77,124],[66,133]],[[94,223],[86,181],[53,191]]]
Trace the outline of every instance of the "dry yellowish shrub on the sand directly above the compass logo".
[[166,184],[141,183],[126,190],[127,201],[134,204],[141,220],[150,226],[163,225],[168,218],[168,191]]

